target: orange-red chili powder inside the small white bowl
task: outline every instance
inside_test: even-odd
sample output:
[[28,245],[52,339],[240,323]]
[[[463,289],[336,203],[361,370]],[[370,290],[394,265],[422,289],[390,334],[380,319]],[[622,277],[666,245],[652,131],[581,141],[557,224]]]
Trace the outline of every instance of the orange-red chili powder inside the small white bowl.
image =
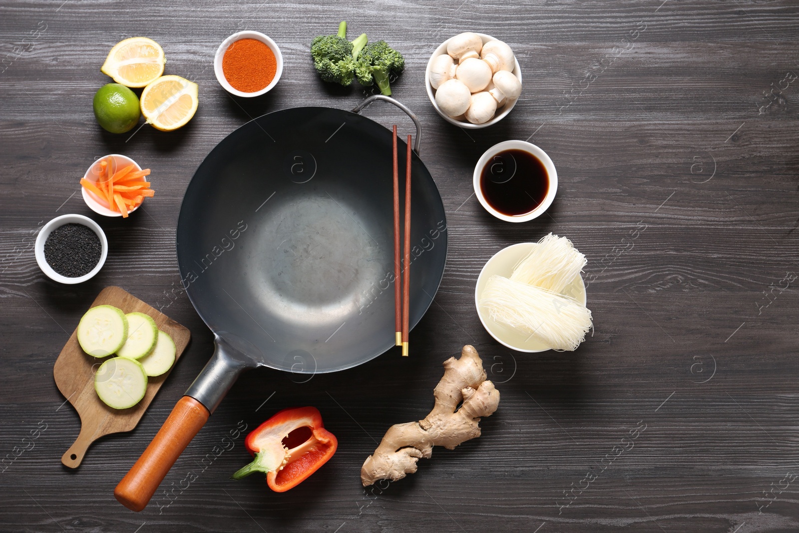
[[268,46],[257,39],[239,39],[222,56],[222,72],[233,89],[255,93],[275,78],[277,59]]

